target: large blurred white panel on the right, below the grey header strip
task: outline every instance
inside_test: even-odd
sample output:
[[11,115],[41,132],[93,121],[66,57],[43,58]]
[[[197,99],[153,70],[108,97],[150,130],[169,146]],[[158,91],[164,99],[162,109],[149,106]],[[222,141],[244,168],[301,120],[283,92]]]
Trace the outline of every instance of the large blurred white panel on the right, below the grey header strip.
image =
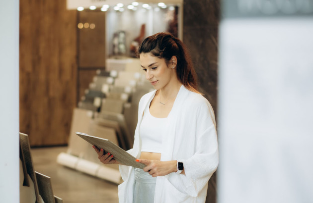
[[218,203],[313,202],[313,17],[220,24]]

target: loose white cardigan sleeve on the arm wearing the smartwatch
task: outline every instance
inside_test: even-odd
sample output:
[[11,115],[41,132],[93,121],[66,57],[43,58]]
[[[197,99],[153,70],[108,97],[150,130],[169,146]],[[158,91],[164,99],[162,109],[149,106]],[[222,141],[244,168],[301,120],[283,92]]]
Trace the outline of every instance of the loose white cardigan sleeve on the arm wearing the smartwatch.
[[187,159],[178,159],[184,164],[185,175],[179,174],[183,190],[192,197],[208,183],[219,163],[218,142],[214,112],[209,102],[197,105],[195,151]]

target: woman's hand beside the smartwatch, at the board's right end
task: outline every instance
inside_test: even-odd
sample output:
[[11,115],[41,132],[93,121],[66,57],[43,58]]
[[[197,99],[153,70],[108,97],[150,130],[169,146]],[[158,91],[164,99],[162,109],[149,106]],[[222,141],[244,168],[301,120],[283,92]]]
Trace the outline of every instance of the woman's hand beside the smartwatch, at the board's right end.
[[152,177],[164,176],[177,171],[177,161],[159,161],[149,159],[136,159],[137,162],[146,164],[144,171],[149,172]]

